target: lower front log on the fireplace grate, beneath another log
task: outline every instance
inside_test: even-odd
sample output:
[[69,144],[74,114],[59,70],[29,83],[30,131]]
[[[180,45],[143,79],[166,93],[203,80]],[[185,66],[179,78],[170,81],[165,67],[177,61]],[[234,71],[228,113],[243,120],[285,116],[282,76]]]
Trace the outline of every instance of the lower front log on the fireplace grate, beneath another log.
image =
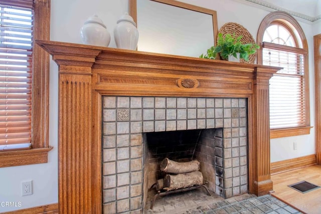
[[203,175],[200,171],[182,174],[167,174],[164,177],[164,189],[174,190],[203,184]]

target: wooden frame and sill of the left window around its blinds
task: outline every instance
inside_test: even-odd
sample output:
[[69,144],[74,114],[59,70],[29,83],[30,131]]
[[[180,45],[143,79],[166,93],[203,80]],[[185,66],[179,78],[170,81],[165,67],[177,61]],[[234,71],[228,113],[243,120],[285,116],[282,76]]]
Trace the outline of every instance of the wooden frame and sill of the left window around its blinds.
[[[49,146],[48,136],[50,55],[35,43],[36,40],[50,40],[50,1],[33,1],[32,148],[0,152],[0,167],[47,163],[48,152],[53,148]],[[25,4],[21,0],[0,0],[0,4],[30,7],[30,4]],[[37,112],[37,114],[34,112]]]

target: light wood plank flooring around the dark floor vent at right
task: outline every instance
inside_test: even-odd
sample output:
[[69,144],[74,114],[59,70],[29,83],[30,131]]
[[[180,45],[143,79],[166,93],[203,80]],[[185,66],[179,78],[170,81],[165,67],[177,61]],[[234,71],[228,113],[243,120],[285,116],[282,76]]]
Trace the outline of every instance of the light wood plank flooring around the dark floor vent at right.
[[302,180],[321,186],[321,165],[312,165],[277,173],[272,175],[271,179],[273,181],[273,196],[303,213],[321,213],[321,188],[301,193],[288,187],[288,185]]

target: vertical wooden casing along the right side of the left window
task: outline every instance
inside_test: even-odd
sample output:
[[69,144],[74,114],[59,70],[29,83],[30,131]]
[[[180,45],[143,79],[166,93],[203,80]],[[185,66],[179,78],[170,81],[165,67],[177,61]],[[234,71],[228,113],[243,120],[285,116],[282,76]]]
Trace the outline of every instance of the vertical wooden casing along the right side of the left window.
[[[34,38],[49,40],[51,1],[35,1]],[[32,146],[49,147],[49,60],[50,55],[39,46],[33,47]]]

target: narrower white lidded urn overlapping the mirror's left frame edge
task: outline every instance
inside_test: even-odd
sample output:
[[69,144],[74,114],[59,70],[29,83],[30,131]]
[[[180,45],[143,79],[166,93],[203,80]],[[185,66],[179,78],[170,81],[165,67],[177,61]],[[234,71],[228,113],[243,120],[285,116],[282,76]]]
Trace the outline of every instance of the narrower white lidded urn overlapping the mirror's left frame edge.
[[114,37],[117,48],[136,50],[138,30],[136,23],[127,13],[120,17],[114,28]]

